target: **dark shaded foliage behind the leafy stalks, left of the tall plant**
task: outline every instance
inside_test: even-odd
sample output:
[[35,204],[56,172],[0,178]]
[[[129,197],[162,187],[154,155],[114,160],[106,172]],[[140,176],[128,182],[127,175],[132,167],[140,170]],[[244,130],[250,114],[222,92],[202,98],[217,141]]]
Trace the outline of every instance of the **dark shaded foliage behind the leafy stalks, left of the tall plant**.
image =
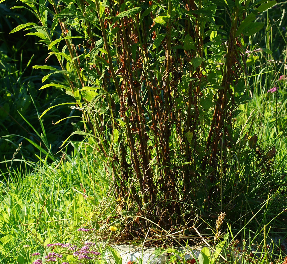
[[[44,63],[47,50],[46,47],[38,43],[36,37],[25,36],[27,31],[9,34],[19,24],[39,22],[26,9],[10,9],[15,5],[16,1],[0,3],[0,136],[15,135],[0,139],[0,161],[10,160],[20,142],[23,142],[20,156],[37,161],[34,153],[39,155],[39,150],[22,136],[34,141],[37,145],[40,145],[41,137],[36,135],[20,114],[28,120],[32,127],[42,133],[37,110],[42,113],[53,104],[67,101],[69,96],[57,90],[53,92],[48,89],[38,90],[42,86],[44,73],[41,70],[35,71],[32,66]],[[57,61],[50,58],[49,63],[54,65]],[[53,81],[63,82],[63,79],[61,76],[56,76]],[[72,112],[74,110],[63,107],[61,111],[49,112],[43,121],[46,139],[51,144],[52,153],[59,150],[61,141],[75,129],[71,126],[71,122],[77,123],[78,120],[70,120],[70,122],[58,126],[54,126],[52,121],[55,122],[61,116],[69,116]],[[14,165],[17,166],[17,162]],[[0,169],[3,173],[7,171],[6,164],[1,163]]]

